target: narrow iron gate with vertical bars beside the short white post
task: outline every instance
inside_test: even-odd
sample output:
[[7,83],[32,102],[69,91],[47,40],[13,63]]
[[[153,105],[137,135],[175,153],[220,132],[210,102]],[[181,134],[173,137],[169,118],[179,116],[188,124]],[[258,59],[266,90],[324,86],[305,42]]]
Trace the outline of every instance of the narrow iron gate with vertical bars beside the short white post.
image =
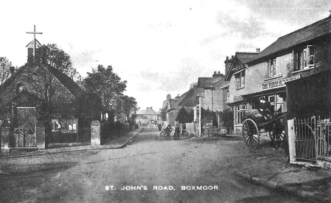
[[295,159],[309,162],[316,162],[316,119],[311,118],[297,119],[294,118],[295,132]]

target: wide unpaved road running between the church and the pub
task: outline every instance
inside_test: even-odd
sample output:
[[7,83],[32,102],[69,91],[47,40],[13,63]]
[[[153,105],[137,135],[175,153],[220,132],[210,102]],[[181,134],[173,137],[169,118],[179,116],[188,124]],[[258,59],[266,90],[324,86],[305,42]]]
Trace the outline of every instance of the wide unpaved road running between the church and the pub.
[[[280,152],[248,149],[234,138],[161,141],[158,133],[146,129],[123,149],[1,159],[9,174],[0,174],[0,202],[306,202],[235,176],[235,170],[272,175],[250,158],[280,159]],[[205,185],[213,189],[181,190]]]

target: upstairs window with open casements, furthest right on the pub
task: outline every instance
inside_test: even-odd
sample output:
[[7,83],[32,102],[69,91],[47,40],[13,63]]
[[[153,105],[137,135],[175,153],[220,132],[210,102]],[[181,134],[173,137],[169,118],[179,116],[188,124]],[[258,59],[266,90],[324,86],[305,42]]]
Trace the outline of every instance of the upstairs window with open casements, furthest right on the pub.
[[308,45],[307,48],[301,50],[293,50],[293,70],[303,70],[305,68],[314,67],[315,64],[315,47]]

